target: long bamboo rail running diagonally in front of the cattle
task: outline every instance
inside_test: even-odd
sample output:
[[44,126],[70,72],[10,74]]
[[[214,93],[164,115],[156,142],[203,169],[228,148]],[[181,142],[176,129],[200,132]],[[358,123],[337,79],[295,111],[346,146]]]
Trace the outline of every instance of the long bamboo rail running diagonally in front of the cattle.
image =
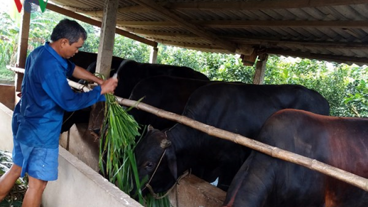
[[200,130],[211,136],[216,136],[222,139],[226,139],[226,140],[235,142],[237,144],[246,146],[248,148],[251,148],[253,150],[257,150],[266,155],[270,155],[275,158],[283,159],[285,161],[289,161],[289,162],[292,162],[298,165],[302,165],[309,169],[315,170],[317,172],[323,173],[325,175],[331,176],[338,180],[341,180],[349,184],[352,184],[356,187],[359,187],[365,191],[368,191],[368,179],[354,175],[349,172],[346,172],[342,169],[333,167],[331,165],[325,164],[316,159],[311,159],[311,158],[308,158],[302,155],[291,153],[289,151],[282,150],[280,148],[264,144],[262,142],[256,141],[254,139],[250,139],[248,137],[242,136],[237,133],[229,132],[223,129],[218,129],[210,125],[206,125],[201,122],[195,121],[193,119],[189,119],[188,117],[156,108],[146,103],[136,102],[133,100],[123,99],[120,97],[116,97],[116,99],[119,104],[126,105],[126,106],[132,106],[139,110],[143,110],[143,111],[155,114],[158,117],[165,118],[171,121],[176,121],[180,124],[184,124],[191,128]]

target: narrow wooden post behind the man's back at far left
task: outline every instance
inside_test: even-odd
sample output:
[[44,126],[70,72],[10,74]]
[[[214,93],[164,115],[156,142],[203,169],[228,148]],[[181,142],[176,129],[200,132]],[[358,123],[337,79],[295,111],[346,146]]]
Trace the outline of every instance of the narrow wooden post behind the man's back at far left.
[[[27,49],[28,49],[28,37],[29,37],[29,23],[30,23],[30,13],[25,12],[22,9],[22,17],[21,17],[21,27],[19,30],[19,39],[18,39],[18,51],[17,51],[17,63],[16,67],[25,68],[26,59],[27,59]],[[22,90],[22,81],[24,74],[16,73],[15,74],[15,104],[17,104],[20,98],[17,96]]]

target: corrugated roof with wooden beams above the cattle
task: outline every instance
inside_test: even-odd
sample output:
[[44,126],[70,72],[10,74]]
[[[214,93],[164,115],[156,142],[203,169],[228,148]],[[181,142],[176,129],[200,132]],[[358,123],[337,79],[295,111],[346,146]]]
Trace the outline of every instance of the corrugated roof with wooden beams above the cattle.
[[[53,2],[102,18],[103,0]],[[204,52],[266,50],[362,65],[368,63],[367,10],[368,0],[120,0],[117,26]]]

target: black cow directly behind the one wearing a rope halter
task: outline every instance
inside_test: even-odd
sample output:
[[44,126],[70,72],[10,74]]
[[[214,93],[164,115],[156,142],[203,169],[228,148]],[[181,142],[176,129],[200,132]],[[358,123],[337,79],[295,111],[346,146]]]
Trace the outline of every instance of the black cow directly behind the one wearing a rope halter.
[[[199,87],[212,82],[171,76],[145,78],[134,86],[129,99],[138,101],[143,98],[141,101],[143,103],[181,114],[189,96]],[[128,113],[134,117],[138,124],[153,125],[159,130],[170,128],[176,124],[176,122],[136,108],[132,108]]]

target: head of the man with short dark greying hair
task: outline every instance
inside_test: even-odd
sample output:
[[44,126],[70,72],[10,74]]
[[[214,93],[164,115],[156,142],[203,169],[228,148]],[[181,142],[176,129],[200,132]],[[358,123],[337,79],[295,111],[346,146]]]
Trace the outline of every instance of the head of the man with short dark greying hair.
[[70,58],[82,47],[87,33],[76,21],[64,19],[53,28],[51,41],[55,51],[64,58]]

